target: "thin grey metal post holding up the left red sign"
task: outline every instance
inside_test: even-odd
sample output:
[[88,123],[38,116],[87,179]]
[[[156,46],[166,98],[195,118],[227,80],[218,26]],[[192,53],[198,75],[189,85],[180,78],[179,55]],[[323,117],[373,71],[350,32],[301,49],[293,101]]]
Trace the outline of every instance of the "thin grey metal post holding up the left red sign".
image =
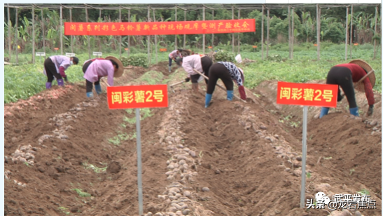
[[136,109],[136,133],[137,133],[137,182],[139,188],[139,215],[144,215],[144,208],[142,207],[142,161],[141,161],[141,126],[140,126],[139,109]]

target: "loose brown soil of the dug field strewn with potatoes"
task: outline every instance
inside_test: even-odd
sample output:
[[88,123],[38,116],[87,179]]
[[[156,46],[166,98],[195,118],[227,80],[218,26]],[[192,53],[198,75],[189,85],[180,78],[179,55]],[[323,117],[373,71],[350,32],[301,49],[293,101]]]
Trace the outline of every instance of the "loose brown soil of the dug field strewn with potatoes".
[[[134,67],[116,85],[149,70],[169,75],[167,62]],[[179,182],[191,193],[188,215],[328,215],[300,208],[302,109],[272,104],[267,86],[275,83],[260,85],[254,90],[259,97],[246,104],[225,100],[216,88],[208,109],[202,90],[194,94],[186,85],[169,94],[168,108],[151,109],[152,116],[141,112],[144,212],[174,210],[167,195],[169,185]],[[318,191],[330,196],[366,189],[376,209],[361,213],[381,215],[378,109],[370,119],[351,119],[344,109],[314,119],[317,110],[310,109],[306,198]],[[110,110],[105,94],[88,99],[83,83],[7,104],[5,214],[138,215],[136,128],[127,118],[134,118],[134,110]],[[110,139],[118,135],[128,137],[113,144]],[[16,149],[29,144],[36,148],[34,163],[13,163]],[[190,154],[188,172],[167,177],[167,162],[183,151]],[[107,168],[95,172],[91,165]]]

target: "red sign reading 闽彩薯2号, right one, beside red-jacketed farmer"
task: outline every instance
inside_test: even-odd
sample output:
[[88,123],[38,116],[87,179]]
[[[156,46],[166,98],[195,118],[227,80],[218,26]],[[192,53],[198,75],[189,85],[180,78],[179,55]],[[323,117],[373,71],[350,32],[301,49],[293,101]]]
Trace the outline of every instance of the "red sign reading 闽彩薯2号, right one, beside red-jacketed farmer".
[[278,82],[277,104],[337,107],[337,85]]

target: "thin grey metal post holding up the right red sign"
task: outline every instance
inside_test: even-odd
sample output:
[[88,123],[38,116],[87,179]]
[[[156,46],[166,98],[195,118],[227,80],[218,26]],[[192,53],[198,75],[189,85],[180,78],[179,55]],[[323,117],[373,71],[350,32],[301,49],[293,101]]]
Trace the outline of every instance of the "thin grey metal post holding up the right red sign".
[[306,154],[307,154],[307,106],[303,107],[303,131],[302,131],[302,175],[300,182],[300,208],[305,208],[306,192]]

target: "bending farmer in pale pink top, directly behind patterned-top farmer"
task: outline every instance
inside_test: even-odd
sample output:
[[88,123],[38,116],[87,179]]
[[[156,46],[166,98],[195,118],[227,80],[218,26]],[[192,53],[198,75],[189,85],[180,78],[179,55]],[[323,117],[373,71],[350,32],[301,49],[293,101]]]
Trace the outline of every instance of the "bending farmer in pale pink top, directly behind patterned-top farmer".
[[[200,74],[195,72],[193,69],[198,72],[204,73],[205,76],[209,76],[209,69],[213,62],[206,55],[189,55],[184,58],[178,58],[176,61],[177,65],[182,66],[183,69],[188,73],[188,77],[185,79],[186,82],[192,81],[192,89],[195,93],[198,92],[198,81],[200,79]],[[205,79],[205,83],[208,81]]]

